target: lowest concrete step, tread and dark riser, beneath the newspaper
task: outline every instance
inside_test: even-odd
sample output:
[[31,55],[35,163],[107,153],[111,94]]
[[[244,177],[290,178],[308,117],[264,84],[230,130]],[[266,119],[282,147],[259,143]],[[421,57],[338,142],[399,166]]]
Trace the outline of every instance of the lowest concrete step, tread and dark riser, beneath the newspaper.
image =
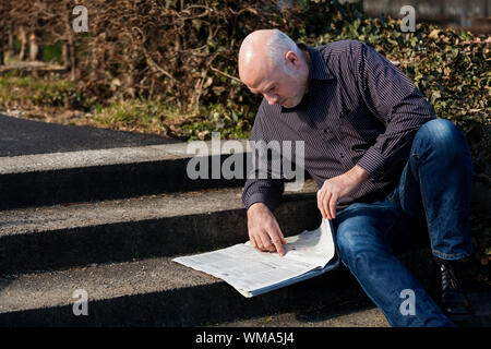
[[[195,326],[363,298],[342,272],[252,299],[166,257],[22,274],[0,279],[0,326]],[[76,290],[86,316],[73,314]]]

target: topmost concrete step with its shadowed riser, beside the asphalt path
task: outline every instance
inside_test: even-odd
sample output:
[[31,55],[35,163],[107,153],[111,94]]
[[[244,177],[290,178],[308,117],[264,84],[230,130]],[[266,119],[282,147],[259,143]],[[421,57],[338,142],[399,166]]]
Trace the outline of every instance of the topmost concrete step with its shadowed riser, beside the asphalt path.
[[[247,142],[237,142],[243,152],[236,154],[247,164]],[[208,164],[221,164],[232,153],[212,154],[212,141],[203,144],[207,155],[203,151],[200,158]],[[212,179],[211,165],[207,179],[190,179],[193,156],[188,143],[176,143],[0,157],[0,209],[243,185],[246,173]]]

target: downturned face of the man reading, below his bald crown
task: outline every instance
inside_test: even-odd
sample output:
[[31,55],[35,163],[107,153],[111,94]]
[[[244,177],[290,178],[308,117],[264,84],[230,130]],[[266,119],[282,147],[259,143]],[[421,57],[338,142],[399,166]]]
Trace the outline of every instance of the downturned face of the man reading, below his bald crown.
[[292,108],[300,104],[308,84],[308,76],[298,61],[286,61],[286,65],[264,64],[251,69],[242,80],[253,94],[262,94],[270,105]]

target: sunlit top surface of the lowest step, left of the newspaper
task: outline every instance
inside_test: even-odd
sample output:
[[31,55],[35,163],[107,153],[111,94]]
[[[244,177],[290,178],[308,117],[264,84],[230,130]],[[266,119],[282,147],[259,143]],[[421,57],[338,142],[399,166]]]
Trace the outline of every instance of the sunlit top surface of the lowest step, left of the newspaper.
[[168,257],[88,265],[0,278],[0,313],[73,304],[77,289],[88,302],[223,282]]

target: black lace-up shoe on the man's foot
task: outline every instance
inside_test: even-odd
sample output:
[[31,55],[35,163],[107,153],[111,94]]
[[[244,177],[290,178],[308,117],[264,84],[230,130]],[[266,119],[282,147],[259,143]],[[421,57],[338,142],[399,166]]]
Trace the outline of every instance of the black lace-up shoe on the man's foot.
[[434,257],[440,281],[438,303],[443,312],[452,320],[465,318],[470,314],[470,305],[462,291],[462,287],[455,276],[453,261],[444,261]]

